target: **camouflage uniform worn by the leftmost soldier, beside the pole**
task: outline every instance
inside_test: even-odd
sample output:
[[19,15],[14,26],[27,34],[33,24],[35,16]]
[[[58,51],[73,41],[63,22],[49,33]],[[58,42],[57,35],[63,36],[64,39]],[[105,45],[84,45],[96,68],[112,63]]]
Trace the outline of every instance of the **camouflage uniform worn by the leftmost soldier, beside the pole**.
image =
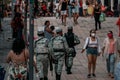
[[[48,50],[48,39],[44,37],[39,37],[39,39],[35,41],[35,48],[36,45],[41,45],[39,43],[37,44],[37,42],[41,40],[46,41],[45,45]],[[48,53],[39,52],[36,49],[34,50],[34,52],[36,55],[36,64],[37,64],[39,78],[40,80],[48,80],[47,75],[48,75],[48,66],[49,66],[49,50]]]

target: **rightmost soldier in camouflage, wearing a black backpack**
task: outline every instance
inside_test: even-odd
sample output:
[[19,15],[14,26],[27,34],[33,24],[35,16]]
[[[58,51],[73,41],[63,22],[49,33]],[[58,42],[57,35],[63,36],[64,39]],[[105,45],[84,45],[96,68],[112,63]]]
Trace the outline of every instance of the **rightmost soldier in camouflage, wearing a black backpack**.
[[65,56],[65,65],[66,65],[66,71],[67,74],[72,74],[71,68],[73,65],[73,59],[76,55],[75,47],[76,45],[80,44],[80,40],[77,35],[73,33],[73,27],[68,27],[68,32],[64,34],[69,48],[73,48],[73,51]]

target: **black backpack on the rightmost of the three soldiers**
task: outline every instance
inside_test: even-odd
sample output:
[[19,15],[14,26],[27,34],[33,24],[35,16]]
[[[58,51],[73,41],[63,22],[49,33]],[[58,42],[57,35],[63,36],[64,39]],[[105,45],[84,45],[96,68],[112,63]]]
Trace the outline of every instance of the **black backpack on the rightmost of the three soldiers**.
[[74,33],[71,33],[71,34],[65,33],[65,38],[67,40],[68,46],[73,47],[74,46]]

